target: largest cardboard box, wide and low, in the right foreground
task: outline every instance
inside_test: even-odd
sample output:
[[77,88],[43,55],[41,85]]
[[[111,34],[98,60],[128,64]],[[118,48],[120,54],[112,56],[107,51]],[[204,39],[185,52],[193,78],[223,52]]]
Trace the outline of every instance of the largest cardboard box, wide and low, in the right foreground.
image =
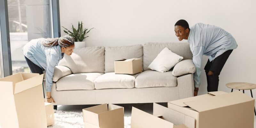
[[254,99],[242,92],[208,94],[168,102],[196,120],[196,128],[253,128]]

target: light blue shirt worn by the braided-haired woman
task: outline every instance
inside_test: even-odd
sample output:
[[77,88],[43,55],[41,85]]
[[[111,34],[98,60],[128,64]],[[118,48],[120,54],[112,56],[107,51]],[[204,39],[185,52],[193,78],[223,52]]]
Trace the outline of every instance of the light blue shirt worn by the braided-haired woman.
[[28,42],[23,48],[23,54],[34,64],[46,70],[45,83],[46,92],[52,91],[52,76],[55,66],[62,59],[60,45],[50,48],[44,47],[39,41],[34,39]]

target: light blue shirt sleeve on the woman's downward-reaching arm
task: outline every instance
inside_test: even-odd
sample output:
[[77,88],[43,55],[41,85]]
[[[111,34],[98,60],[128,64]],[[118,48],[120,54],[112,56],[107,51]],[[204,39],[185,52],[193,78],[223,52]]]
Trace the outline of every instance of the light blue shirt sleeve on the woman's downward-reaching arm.
[[46,76],[45,76],[45,86],[46,92],[52,91],[52,77],[55,66],[58,64],[58,56],[55,54],[48,54],[46,56]]

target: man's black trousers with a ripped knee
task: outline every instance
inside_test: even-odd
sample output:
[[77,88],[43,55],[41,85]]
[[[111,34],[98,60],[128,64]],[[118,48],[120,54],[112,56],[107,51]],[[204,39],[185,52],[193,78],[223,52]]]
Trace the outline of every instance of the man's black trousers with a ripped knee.
[[[211,62],[208,59],[204,67],[207,79],[207,92],[218,91],[220,72],[232,51],[233,49],[222,53],[220,56],[216,57]],[[208,76],[209,71],[212,71],[213,75]]]

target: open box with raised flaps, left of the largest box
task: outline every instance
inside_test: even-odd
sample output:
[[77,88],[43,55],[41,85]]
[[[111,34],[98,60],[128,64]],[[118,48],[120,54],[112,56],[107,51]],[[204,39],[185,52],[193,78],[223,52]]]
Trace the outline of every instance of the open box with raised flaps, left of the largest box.
[[[184,120],[191,122],[189,124],[192,127],[195,127],[195,119],[188,117],[185,119],[184,114],[178,114],[169,108],[165,108],[159,104],[154,103],[154,116],[146,113],[140,109],[132,107],[132,119],[131,119],[131,128],[187,128],[184,124],[175,126],[170,121],[179,122],[178,120]],[[174,115],[170,115],[175,113]],[[182,116],[183,115],[183,116]],[[178,117],[174,117],[178,116]],[[173,118],[174,117],[174,118]],[[179,122],[179,123],[180,123]]]

